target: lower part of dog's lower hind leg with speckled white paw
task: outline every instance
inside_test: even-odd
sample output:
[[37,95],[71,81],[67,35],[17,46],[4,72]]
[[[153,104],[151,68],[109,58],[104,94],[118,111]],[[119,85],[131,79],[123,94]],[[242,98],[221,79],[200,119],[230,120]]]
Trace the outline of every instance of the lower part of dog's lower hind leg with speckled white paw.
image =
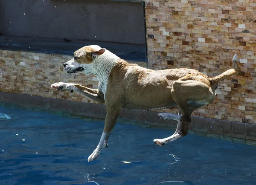
[[[179,109],[178,116],[180,116],[180,109]],[[189,123],[178,121],[176,131],[172,136],[164,138],[164,139],[154,139],[154,144],[163,146],[168,142],[173,142],[177,139],[180,139],[187,135],[188,127],[189,127]]]

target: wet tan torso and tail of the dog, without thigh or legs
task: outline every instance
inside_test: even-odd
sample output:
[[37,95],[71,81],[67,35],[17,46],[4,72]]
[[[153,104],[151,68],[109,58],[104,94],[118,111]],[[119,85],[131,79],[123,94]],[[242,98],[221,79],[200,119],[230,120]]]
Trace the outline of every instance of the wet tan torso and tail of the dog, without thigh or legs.
[[[233,63],[237,57],[234,57]],[[173,107],[176,105],[171,90],[174,81],[184,79],[186,76],[198,76],[209,88],[215,90],[218,81],[234,74],[235,69],[229,69],[215,77],[208,77],[195,69],[164,69],[151,70],[126,61],[120,60],[111,70],[108,90],[118,92],[122,106],[130,109],[151,110]],[[113,93],[106,93],[106,96]],[[111,99],[111,98],[108,98]]]

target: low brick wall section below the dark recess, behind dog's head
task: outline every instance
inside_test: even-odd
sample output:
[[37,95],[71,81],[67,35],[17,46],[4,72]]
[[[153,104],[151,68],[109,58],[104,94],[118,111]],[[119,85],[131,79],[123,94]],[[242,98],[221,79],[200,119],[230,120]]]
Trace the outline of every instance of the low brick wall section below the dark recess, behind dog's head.
[[[79,93],[53,91],[56,82],[78,83],[98,88],[93,75],[67,74],[63,64],[73,56],[0,50],[0,91],[97,103]],[[145,66],[146,63],[139,63]]]

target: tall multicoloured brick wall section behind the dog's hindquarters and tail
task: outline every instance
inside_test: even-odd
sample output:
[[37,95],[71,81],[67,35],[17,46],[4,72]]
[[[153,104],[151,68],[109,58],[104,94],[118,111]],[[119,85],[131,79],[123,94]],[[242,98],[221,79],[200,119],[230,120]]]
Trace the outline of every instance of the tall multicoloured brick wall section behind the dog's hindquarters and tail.
[[214,103],[195,115],[256,124],[255,0],[146,0],[145,17],[151,69],[214,76],[231,68],[236,53],[241,72],[221,81]]

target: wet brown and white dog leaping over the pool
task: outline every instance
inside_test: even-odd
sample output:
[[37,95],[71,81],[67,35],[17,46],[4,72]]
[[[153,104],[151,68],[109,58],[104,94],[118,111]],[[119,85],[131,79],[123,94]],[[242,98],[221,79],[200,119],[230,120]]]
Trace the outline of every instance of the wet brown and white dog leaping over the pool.
[[82,72],[95,75],[99,79],[99,88],[90,89],[79,84],[63,82],[52,84],[51,87],[57,90],[77,91],[106,104],[105,127],[99,145],[88,157],[90,162],[99,156],[103,147],[108,147],[108,138],[121,107],[156,110],[177,105],[179,115],[158,114],[162,119],[178,120],[176,132],[165,139],[154,139],[154,143],[164,145],[186,136],[192,111],[212,103],[218,82],[236,73],[237,61],[237,55],[234,55],[234,69],[211,78],[195,69],[145,69],[129,64],[105,48],[92,45],[77,50],[74,58],[63,65],[67,73]]

